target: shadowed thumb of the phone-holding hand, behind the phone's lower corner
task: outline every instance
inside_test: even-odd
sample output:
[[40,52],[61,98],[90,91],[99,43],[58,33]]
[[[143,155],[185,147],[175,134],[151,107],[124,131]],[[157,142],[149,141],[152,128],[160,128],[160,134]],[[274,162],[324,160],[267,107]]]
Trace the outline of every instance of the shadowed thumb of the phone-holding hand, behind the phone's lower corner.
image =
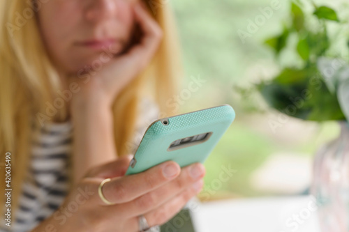
[[117,160],[92,168],[84,177],[114,178],[124,176],[133,155],[124,155]]

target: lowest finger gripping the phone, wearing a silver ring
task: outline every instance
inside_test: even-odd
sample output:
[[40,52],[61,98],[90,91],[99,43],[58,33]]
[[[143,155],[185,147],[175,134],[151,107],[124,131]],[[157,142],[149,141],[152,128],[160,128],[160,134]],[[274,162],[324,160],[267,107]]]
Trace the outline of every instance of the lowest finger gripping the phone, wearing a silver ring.
[[[147,219],[149,226],[156,226],[165,224],[168,222],[174,215],[176,215],[181,208],[183,208],[186,203],[198,194],[202,190],[203,181],[200,180],[199,183],[192,185],[191,187],[186,188],[183,192],[177,194],[170,201],[163,203],[155,210],[151,210],[144,214],[144,217]],[[138,228],[138,217],[133,217],[128,220],[128,228],[132,228],[132,231],[139,231]],[[131,230],[130,230],[131,231]]]

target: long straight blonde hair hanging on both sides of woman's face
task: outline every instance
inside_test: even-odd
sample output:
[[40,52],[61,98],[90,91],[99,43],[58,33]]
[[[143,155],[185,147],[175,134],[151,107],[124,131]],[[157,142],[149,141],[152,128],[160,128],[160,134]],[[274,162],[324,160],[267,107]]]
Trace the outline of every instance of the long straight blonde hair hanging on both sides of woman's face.
[[[47,0],[38,0],[45,4]],[[152,1],[151,1],[152,2]],[[163,40],[149,66],[119,94],[113,105],[115,146],[119,156],[128,154],[127,141],[134,133],[138,104],[144,95],[151,96],[167,116],[176,112],[166,101],[176,92],[182,75],[179,40],[172,10],[168,4],[149,6],[163,29]],[[160,5],[159,5],[160,4]],[[38,5],[39,6],[39,5]],[[11,211],[17,208],[21,185],[30,162],[30,137],[36,115],[45,115],[47,102],[53,105],[63,86],[47,55],[36,22],[36,8],[23,0],[0,2],[0,164],[1,191],[6,189],[5,155],[11,153]],[[50,120],[66,121],[67,107]],[[4,195],[0,204],[3,206]],[[15,214],[12,220],[14,221]]]

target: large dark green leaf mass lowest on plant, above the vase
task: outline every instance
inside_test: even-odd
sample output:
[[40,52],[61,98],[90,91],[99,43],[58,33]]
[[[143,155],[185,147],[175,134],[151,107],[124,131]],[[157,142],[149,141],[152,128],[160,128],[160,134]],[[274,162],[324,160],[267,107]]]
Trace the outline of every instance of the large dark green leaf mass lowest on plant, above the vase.
[[309,121],[345,119],[336,95],[316,77],[316,68],[286,68],[272,82],[261,83],[258,90],[270,107],[288,116]]

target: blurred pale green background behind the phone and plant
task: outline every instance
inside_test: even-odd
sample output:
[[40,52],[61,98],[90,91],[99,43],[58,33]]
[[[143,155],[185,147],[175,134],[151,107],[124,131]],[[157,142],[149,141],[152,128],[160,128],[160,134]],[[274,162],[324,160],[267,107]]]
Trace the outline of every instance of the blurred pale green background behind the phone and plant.
[[[241,36],[242,31],[248,31],[249,22],[262,14],[260,9],[273,2],[279,3],[279,9],[273,10],[272,16],[249,36]],[[336,10],[348,6],[341,0],[313,2]],[[201,86],[191,91],[191,95],[180,98],[181,111],[228,103],[237,114],[205,162],[207,176],[200,199],[307,192],[313,155],[322,144],[338,137],[337,123],[313,123],[282,116],[268,108],[261,96],[253,94],[251,99],[242,99],[235,90],[237,85],[250,86],[281,71],[272,49],[263,43],[281,33],[283,22],[290,15],[291,1],[168,0],[168,3],[177,18],[186,71],[181,90],[188,89],[195,78],[202,79]],[[281,56],[297,65],[295,52],[286,50]],[[264,110],[251,111],[246,100]],[[273,121],[282,123],[275,128]],[[228,180],[220,178],[221,173],[228,173]]]

